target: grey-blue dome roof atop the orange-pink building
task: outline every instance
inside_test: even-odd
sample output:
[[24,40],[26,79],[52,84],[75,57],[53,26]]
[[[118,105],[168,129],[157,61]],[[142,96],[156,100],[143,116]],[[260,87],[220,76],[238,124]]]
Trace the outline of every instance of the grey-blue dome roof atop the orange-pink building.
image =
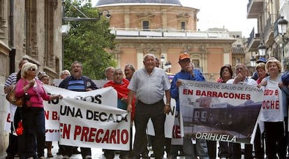
[[98,0],[96,6],[103,6],[117,3],[165,3],[181,6],[179,0]]

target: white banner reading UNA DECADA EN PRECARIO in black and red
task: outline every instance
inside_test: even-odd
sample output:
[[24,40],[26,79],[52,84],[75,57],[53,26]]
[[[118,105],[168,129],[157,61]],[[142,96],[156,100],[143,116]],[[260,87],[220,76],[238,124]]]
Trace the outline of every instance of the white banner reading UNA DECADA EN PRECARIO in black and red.
[[60,144],[129,150],[131,113],[75,99],[59,105]]

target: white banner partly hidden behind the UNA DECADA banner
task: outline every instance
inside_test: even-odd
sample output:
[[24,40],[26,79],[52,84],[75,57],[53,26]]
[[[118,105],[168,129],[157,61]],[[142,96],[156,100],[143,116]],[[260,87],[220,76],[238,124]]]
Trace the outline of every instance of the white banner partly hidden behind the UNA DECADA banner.
[[[88,92],[75,92],[52,85],[43,85],[49,94],[61,94],[64,98],[79,99],[89,103],[103,104],[104,106],[113,106],[117,108],[117,91],[112,87],[105,87]],[[54,101],[44,101],[45,109],[45,127],[46,129],[59,129],[59,99]]]

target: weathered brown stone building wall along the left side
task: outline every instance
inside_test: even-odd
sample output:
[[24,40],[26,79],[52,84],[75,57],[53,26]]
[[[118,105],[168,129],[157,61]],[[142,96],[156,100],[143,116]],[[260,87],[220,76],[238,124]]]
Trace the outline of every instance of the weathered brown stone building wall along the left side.
[[36,63],[41,72],[59,78],[62,69],[61,1],[0,0],[0,156],[8,133],[3,130],[8,107],[3,85],[18,71],[22,58]]

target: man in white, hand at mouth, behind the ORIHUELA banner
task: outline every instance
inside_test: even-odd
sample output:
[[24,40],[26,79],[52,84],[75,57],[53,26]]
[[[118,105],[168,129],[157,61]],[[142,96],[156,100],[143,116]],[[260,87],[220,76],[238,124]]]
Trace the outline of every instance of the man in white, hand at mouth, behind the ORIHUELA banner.
[[[236,73],[235,78],[230,79],[229,81],[227,81],[227,83],[257,86],[257,82],[253,78],[248,78],[246,76],[247,69],[246,69],[246,66],[244,64],[238,63],[235,67],[235,73]],[[240,159],[241,155],[242,155],[241,144],[230,142],[229,147],[230,147],[231,158]],[[244,152],[245,158],[253,158],[252,149],[253,149],[252,144],[245,144],[245,152]]]

